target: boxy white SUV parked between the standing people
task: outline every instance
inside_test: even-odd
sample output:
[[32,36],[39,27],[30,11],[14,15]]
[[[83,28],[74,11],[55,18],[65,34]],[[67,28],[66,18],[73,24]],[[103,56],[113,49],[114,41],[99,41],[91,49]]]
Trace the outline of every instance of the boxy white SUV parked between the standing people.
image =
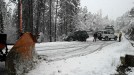
[[114,35],[113,32],[110,32],[107,30],[101,30],[101,31],[98,31],[97,33],[99,35],[98,36],[99,40],[102,40],[102,39],[104,39],[104,40],[111,40],[111,39],[117,40],[117,38],[118,38],[116,35]]

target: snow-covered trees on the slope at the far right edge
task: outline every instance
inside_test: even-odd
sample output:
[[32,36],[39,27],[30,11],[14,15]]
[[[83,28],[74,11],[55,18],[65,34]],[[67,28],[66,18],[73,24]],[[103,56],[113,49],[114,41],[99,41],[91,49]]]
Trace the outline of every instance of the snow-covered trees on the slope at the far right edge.
[[116,26],[134,40],[134,7],[116,19]]

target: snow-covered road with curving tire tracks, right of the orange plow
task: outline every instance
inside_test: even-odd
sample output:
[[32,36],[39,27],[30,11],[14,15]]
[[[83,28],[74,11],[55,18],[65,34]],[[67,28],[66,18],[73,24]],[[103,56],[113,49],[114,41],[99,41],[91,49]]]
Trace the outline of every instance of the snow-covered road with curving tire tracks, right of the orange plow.
[[103,47],[115,43],[116,41],[92,42],[59,42],[36,44],[37,53],[47,61],[56,61],[71,57],[79,57],[101,50]]

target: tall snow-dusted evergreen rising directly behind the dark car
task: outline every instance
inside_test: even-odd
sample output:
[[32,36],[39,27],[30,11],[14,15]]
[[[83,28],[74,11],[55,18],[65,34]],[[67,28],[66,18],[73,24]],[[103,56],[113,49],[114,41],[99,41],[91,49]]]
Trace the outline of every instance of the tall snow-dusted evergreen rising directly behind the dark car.
[[79,0],[60,0],[60,28],[61,34],[68,34],[75,29],[74,16],[78,13]]

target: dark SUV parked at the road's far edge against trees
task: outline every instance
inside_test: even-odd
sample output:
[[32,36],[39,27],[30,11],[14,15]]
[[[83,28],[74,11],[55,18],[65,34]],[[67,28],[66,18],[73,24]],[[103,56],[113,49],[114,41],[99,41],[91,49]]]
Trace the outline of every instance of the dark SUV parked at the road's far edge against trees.
[[87,34],[86,31],[76,31],[74,33],[71,33],[64,40],[65,41],[86,41],[88,37],[89,35]]

